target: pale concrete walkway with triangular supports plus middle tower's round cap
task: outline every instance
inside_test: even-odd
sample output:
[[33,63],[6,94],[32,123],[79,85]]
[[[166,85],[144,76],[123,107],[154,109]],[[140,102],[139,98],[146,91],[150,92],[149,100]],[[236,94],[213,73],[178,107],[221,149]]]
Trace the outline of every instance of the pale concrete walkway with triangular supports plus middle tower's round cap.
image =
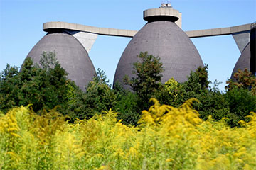
[[[159,16],[157,16],[159,15]],[[172,16],[173,15],[173,16]],[[144,19],[146,21],[158,20],[158,21],[175,21],[175,23],[181,28],[182,13],[179,13],[173,8],[154,8],[144,11]],[[247,43],[250,41],[250,23],[233,26],[227,28],[213,28],[206,30],[190,30],[185,33],[189,38],[201,38],[218,35],[233,35],[233,38],[238,45],[240,52],[244,50]],[[136,30],[120,30],[114,28],[98,28],[93,26],[84,26],[75,23],[65,22],[48,22],[43,23],[43,30],[51,32],[56,29],[63,29],[77,38],[81,44],[85,47],[87,52],[90,52],[92,45],[94,44],[97,35],[110,35],[119,37],[133,38],[137,33]]]

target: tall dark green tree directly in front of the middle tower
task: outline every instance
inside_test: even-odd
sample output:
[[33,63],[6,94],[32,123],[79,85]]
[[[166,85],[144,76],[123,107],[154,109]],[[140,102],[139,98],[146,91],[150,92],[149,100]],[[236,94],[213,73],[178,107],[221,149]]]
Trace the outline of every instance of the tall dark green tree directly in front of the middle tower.
[[[164,72],[164,67],[159,57],[148,55],[148,52],[141,52],[137,57],[139,61],[134,63],[133,69],[136,77],[125,77],[124,82],[138,95],[139,103],[149,103],[149,99],[161,86],[161,72]],[[146,105],[147,107],[149,106]]]

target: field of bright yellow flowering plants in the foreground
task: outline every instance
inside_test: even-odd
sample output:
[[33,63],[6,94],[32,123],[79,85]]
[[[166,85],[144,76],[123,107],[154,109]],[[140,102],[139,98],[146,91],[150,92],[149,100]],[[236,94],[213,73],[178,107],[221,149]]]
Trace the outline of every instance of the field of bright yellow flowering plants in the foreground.
[[0,169],[256,169],[256,113],[230,128],[201,120],[196,99],[152,100],[137,128],[111,110],[70,124],[55,110],[11,109],[0,115]]

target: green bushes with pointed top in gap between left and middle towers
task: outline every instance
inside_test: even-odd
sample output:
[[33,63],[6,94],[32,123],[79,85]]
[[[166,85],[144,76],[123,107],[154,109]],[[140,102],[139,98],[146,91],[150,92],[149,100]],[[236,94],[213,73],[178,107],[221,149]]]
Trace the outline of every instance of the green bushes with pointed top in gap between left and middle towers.
[[117,97],[101,69],[97,69],[93,80],[87,84],[86,91],[75,89],[73,92],[73,101],[62,108],[62,112],[70,116],[70,122],[74,122],[76,118],[92,118],[95,114],[114,108],[116,104]]

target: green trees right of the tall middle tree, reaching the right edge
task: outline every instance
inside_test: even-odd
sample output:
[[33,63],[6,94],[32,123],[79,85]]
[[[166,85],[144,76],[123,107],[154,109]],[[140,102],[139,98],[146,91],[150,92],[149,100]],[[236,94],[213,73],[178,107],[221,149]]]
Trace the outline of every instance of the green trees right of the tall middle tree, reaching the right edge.
[[[200,113],[200,118],[206,120],[209,115],[216,120],[228,118],[227,122],[231,127],[238,126],[239,120],[247,120],[245,115],[250,111],[256,112],[256,95],[248,86],[236,86],[232,81],[230,85],[232,88],[223,93],[218,89],[216,81],[213,87],[210,87],[207,69],[207,65],[198,67],[196,72],[191,72],[188,81],[184,83],[170,79],[156,93],[156,98],[160,103],[171,106],[181,106],[189,98],[197,98],[199,103],[194,103],[193,107]],[[245,73],[240,72],[240,74]],[[240,81],[240,84],[242,83],[243,81]]]

